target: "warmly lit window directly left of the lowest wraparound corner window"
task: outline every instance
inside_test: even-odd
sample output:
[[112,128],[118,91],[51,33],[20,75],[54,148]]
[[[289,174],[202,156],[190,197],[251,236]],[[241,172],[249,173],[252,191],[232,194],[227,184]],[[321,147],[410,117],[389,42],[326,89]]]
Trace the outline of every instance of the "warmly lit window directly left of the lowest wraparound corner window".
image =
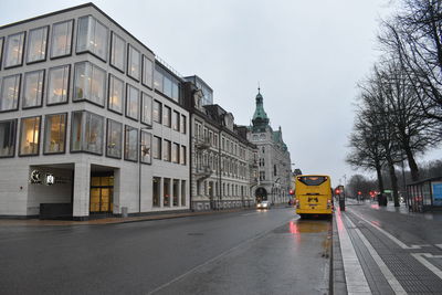
[[44,119],[44,154],[64,152],[67,114],[48,115]]

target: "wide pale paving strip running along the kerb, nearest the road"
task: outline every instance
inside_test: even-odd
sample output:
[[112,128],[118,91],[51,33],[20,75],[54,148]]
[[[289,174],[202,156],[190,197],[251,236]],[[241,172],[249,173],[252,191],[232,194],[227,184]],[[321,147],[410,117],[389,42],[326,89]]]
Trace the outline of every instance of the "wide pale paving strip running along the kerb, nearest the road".
[[371,294],[370,286],[340,214],[340,211],[335,212],[347,292],[348,294]]

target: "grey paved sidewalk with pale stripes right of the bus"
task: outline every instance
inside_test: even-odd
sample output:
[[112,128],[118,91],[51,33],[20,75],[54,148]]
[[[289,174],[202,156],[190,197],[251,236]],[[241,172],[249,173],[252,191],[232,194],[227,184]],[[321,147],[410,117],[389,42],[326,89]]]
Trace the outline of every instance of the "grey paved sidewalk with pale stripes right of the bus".
[[348,294],[442,294],[441,213],[350,202],[335,217]]

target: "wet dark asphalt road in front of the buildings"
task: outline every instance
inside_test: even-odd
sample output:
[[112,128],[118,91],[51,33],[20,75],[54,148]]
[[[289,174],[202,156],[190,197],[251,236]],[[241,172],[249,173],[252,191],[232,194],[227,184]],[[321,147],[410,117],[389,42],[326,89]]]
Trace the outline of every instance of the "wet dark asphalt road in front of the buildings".
[[292,209],[0,228],[0,294],[327,294],[330,221]]

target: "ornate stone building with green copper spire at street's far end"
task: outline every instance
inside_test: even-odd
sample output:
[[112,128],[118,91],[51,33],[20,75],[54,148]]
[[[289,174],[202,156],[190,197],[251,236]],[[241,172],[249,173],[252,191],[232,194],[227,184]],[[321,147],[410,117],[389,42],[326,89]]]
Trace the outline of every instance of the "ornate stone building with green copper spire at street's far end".
[[287,202],[292,188],[291,156],[283,140],[281,127],[274,131],[264,110],[264,98],[256,95],[256,108],[249,127],[248,139],[257,147],[259,185],[254,197],[274,203]]

